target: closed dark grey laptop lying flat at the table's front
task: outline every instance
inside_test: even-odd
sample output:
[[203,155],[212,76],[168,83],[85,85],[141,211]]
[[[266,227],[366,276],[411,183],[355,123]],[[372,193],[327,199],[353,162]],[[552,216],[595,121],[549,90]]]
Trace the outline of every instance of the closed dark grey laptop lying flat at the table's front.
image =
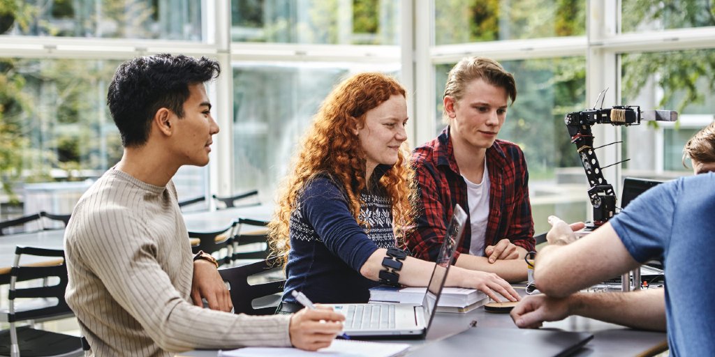
[[475,327],[429,343],[410,356],[569,356],[592,338],[586,332]]

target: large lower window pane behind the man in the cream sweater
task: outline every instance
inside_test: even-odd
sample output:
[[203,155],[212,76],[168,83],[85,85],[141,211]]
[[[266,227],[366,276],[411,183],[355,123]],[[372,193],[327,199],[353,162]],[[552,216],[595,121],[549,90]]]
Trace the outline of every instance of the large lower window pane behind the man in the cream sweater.
[[[89,187],[71,181],[97,178],[122,158],[119,131],[106,106],[118,65],[114,60],[0,59],[0,83],[8,84],[0,86],[5,202],[23,202],[26,213],[70,213]],[[180,198],[204,194],[205,171],[179,171]]]

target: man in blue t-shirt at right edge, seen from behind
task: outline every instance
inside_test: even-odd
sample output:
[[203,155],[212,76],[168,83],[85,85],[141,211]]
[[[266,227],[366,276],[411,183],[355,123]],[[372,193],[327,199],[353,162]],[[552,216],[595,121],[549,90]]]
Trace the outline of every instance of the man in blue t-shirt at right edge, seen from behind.
[[[715,231],[715,123],[685,146],[694,177],[662,183],[636,198],[601,228],[576,241],[571,226],[556,217],[538,253],[535,278],[546,295],[528,296],[511,312],[517,326],[536,328],[543,321],[580,315],[633,328],[668,331],[673,356],[713,356],[715,332],[710,317],[715,281],[709,242]],[[569,246],[563,246],[574,242]],[[663,257],[666,287],[629,293],[575,293]]]

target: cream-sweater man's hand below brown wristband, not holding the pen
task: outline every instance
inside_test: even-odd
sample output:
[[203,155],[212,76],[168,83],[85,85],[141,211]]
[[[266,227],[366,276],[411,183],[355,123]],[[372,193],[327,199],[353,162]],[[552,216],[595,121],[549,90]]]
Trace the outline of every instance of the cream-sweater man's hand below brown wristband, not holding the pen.
[[210,261],[194,261],[194,278],[191,281],[191,299],[196,306],[204,306],[202,298],[212,310],[230,312],[233,308],[231,294],[226,288],[216,266]]

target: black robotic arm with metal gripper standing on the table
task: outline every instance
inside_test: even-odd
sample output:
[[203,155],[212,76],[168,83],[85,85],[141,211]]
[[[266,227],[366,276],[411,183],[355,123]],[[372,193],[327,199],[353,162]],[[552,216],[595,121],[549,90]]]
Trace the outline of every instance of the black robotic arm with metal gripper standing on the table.
[[566,114],[564,122],[571,136],[571,142],[576,144],[581,164],[586,170],[586,177],[591,188],[588,198],[593,205],[593,223],[586,223],[586,229],[592,230],[606,223],[616,214],[616,193],[613,186],[603,178],[601,166],[593,151],[593,124],[611,124],[613,126],[631,126],[641,124],[642,120],[676,121],[676,111],[641,111],[640,106],[613,106],[606,109],[586,109]]

